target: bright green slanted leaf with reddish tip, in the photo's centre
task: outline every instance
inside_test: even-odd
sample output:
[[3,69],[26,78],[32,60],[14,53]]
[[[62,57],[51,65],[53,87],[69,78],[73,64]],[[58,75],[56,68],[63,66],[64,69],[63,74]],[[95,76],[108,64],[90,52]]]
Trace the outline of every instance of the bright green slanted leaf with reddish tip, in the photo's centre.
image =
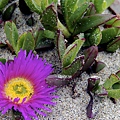
[[70,65],[74,61],[76,55],[78,54],[84,42],[85,39],[77,39],[67,47],[65,53],[63,54],[63,59],[62,59],[63,67]]

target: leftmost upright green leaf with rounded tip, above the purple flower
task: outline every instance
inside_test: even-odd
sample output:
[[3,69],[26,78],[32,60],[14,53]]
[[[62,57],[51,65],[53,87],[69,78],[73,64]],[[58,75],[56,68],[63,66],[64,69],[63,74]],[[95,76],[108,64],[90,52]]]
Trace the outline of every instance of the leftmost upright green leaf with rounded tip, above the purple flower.
[[17,41],[18,41],[18,30],[14,22],[7,21],[4,26],[6,37],[9,43],[12,45],[13,49],[16,51]]

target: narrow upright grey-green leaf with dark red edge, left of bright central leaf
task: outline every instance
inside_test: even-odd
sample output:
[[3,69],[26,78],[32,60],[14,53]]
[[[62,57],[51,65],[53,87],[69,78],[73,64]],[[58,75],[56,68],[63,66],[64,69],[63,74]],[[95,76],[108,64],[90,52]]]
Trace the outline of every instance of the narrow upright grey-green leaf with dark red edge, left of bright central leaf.
[[66,44],[65,44],[65,39],[64,36],[62,35],[62,32],[58,30],[57,32],[57,49],[58,49],[58,55],[60,59],[62,60],[63,54],[66,49]]

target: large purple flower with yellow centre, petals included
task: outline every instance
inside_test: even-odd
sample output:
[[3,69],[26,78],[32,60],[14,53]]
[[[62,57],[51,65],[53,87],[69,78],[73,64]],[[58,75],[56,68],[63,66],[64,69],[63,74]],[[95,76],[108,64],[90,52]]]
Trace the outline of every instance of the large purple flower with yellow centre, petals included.
[[46,116],[51,112],[55,87],[49,87],[46,77],[52,72],[48,64],[32,51],[26,56],[20,50],[18,56],[10,63],[0,63],[0,111],[5,114],[14,109],[22,113],[25,120],[38,119],[36,114]]

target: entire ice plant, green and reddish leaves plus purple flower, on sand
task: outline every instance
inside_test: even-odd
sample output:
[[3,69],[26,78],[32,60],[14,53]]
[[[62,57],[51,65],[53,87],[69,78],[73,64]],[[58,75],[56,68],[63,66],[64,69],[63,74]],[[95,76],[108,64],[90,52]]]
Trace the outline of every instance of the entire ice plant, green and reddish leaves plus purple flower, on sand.
[[[3,85],[1,86],[1,91],[3,90],[5,96],[7,96],[4,98],[1,93],[1,99],[4,100],[4,104],[1,101],[3,114],[8,109],[12,109],[14,114],[16,111],[20,112],[20,115],[26,120],[32,117],[37,119],[36,113],[45,116],[46,114],[41,109],[51,111],[44,104],[54,105],[52,99],[57,96],[50,95],[54,92],[55,87],[69,84],[74,78],[80,77],[83,72],[88,74],[97,73],[106,66],[102,61],[97,61],[98,52],[113,53],[120,48],[119,16],[117,14],[102,14],[113,2],[114,0],[60,0],[60,4],[58,4],[57,0],[19,0],[17,2],[14,0],[1,0],[0,24],[4,25],[7,41],[6,43],[1,42],[0,45],[1,47],[9,47],[10,51],[16,55],[16,58],[12,61],[6,62],[4,58],[0,59],[2,62],[1,79],[4,81],[2,84],[5,84],[5,88],[3,88]],[[12,14],[16,7],[19,7],[23,14],[30,15],[29,22],[31,24],[28,25],[33,25],[34,18],[32,14],[36,12],[42,27],[19,35],[15,21],[12,20]],[[114,8],[112,7],[112,9]],[[56,48],[62,65],[62,71],[59,75],[50,75],[52,71],[51,65],[41,61],[37,55],[34,55],[36,51],[43,48],[49,49],[50,47]],[[32,51],[33,53],[31,53]],[[28,54],[27,57],[26,54]],[[24,68],[20,63],[25,64],[25,66],[29,66],[31,63],[36,71],[43,72],[44,69],[49,69],[49,74],[43,72],[43,76],[38,76],[37,73],[28,70],[32,73],[32,77],[29,78],[28,74],[30,73],[22,74],[22,70],[24,72],[26,67]],[[16,64],[21,68],[19,68],[21,71],[12,68]],[[40,67],[41,64],[42,68]],[[9,69],[13,69],[10,76]],[[91,97],[87,107],[87,116],[89,118],[94,117],[92,113],[93,94],[99,97],[108,96],[114,100],[120,98],[119,74],[120,71],[112,74],[103,85],[99,85],[99,77],[88,79],[87,93]],[[3,76],[5,77],[3,78]],[[43,88],[36,85],[36,77],[39,78],[41,82],[39,84]],[[16,82],[18,78],[19,82]],[[26,82],[28,86],[25,85]],[[35,88],[32,86],[33,84],[35,84]],[[15,89],[13,90],[13,88]],[[9,89],[13,90],[11,96],[9,96]],[[34,93],[35,90],[39,91],[40,89],[46,89],[46,95],[43,95],[44,92],[39,92],[42,101],[40,101],[40,98],[37,101],[38,98]],[[35,108],[29,105],[31,101]],[[40,102],[42,104],[37,106]],[[3,110],[6,103],[9,106]],[[33,110],[33,112],[28,113],[29,110]]]

